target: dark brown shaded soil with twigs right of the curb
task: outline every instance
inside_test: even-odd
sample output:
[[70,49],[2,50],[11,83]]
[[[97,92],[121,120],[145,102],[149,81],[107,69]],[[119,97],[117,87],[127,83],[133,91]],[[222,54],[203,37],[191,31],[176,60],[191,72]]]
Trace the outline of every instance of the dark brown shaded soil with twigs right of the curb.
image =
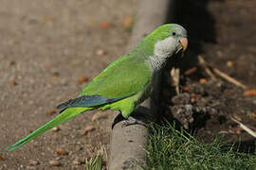
[[[256,2],[253,0],[179,1],[176,22],[189,30],[190,50],[182,62],[182,93],[168,96],[169,111],[195,137],[210,142],[224,135],[235,149],[255,153],[255,140],[230,116],[256,131],[256,96],[214,74],[213,81],[197,56],[256,89]],[[185,7],[185,8],[184,8]],[[251,92],[252,93],[252,92]],[[239,148],[238,148],[239,146]]]

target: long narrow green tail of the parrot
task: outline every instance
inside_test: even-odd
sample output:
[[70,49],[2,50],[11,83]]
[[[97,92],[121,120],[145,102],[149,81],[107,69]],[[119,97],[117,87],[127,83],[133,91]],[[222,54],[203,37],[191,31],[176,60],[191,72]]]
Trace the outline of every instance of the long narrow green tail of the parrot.
[[33,131],[32,133],[27,135],[27,137],[25,137],[24,139],[7,147],[8,152],[22,146],[23,144],[28,143],[29,141],[31,141],[31,140],[35,139],[36,137],[45,133],[48,129],[50,129],[52,127],[56,127],[86,110],[92,110],[92,108],[68,108],[68,109],[64,110],[59,115],[54,117],[52,120],[47,122],[44,126],[39,127],[38,129],[36,129],[35,131]]

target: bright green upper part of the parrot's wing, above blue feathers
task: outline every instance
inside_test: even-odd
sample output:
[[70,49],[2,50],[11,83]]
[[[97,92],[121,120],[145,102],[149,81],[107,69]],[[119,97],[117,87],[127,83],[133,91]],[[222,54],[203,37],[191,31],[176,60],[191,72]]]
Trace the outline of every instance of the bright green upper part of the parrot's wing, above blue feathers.
[[114,61],[85,85],[81,94],[108,98],[131,95],[143,90],[151,78],[152,70],[148,61],[128,54]]

